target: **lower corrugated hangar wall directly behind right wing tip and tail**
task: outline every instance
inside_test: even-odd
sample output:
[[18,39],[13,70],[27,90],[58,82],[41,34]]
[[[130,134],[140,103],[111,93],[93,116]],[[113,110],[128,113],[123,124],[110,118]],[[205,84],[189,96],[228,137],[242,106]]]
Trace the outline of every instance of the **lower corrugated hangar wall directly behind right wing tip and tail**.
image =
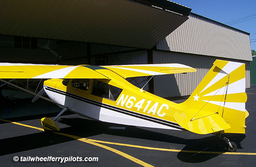
[[[154,77],[154,92],[160,97],[188,96],[193,93],[197,85],[201,82],[210,68],[213,66],[217,57],[192,55],[187,53],[154,51],[153,62],[157,63],[180,63],[197,69],[197,72],[186,74],[174,74]],[[250,87],[250,62],[241,60],[222,60],[237,61],[246,64],[246,88]]]

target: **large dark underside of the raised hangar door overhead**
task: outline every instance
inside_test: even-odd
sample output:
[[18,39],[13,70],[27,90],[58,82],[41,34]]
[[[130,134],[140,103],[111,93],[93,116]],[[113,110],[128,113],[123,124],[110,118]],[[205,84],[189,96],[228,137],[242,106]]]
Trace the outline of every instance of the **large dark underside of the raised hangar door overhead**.
[[186,19],[129,0],[0,0],[3,35],[151,49]]

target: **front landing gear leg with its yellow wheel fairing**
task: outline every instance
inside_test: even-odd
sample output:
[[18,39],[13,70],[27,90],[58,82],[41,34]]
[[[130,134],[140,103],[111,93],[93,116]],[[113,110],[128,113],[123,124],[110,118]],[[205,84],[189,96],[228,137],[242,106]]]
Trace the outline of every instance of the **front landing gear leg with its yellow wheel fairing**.
[[51,118],[48,117],[43,117],[41,118],[41,124],[43,127],[43,130],[45,132],[49,132],[49,131],[59,131],[58,126],[56,125],[56,123],[54,123],[54,121],[61,115],[63,114],[65,111],[67,110],[67,108],[64,108],[63,110],[61,110],[61,112],[58,114],[58,116],[56,116],[53,120]]

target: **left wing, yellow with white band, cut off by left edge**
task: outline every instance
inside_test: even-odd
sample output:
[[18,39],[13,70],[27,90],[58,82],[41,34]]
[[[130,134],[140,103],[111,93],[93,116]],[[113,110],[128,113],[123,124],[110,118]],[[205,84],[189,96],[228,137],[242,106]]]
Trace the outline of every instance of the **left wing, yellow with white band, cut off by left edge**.
[[109,79],[86,66],[0,63],[1,79]]

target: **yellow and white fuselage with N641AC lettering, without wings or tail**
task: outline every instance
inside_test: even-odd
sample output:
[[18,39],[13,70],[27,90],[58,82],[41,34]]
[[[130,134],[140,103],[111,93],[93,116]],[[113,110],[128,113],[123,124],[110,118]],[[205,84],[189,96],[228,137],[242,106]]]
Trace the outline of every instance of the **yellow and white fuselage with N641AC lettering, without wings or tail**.
[[47,95],[71,111],[104,122],[184,130],[174,113],[181,105],[140,89],[109,69],[98,69],[105,79],[51,79],[44,82]]

